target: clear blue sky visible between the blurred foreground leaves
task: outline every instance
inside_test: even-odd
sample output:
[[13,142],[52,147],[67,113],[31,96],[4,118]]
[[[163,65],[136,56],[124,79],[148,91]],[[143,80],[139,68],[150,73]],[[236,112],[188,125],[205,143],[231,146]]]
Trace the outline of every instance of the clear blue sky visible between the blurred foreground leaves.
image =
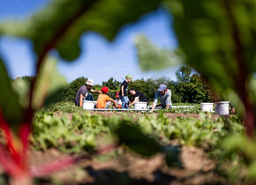
[[[49,0],[0,0],[0,22],[8,18],[26,18],[42,8]],[[134,38],[145,34],[156,46],[176,48],[177,40],[171,28],[171,18],[162,10],[149,13],[135,24],[125,26],[114,42],[105,40],[97,33],[85,33],[81,38],[82,55],[73,62],[58,63],[58,70],[68,82],[86,77],[101,84],[113,77],[124,80],[125,74],[134,79],[160,78],[176,79],[177,68],[144,72],[139,69],[139,62],[134,46]],[[4,37],[0,39],[0,51],[4,55],[8,71],[12,78],[34,75],[34,61],[29,41]]]

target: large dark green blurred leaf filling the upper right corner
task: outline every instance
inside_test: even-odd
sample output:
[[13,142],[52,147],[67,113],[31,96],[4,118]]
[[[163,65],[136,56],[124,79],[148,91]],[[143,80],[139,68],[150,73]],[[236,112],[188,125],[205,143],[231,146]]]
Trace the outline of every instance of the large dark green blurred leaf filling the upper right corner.
[[248,100],[246,93],[256,71],[256,2],[165,2],[173,15],[174,29],[186,63],[200,72],[216,93],[229,100],[239,98],[240,101],[235,100],[236,107],[243,109],[243,105],[249,105],[245,102]]

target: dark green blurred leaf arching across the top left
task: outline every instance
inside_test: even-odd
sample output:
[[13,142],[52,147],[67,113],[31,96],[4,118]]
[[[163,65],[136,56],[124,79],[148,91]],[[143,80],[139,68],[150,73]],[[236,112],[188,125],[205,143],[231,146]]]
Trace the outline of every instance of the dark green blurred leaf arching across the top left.
[[37,55],[56,48],[62,58],[72,61],[80,54],[79,38],[83,33],[94,31],[112,41],[124,24],[156,10],[159,3],[160,0],[54,0],[25,21],[3,23],[0,34],[32,40]]

